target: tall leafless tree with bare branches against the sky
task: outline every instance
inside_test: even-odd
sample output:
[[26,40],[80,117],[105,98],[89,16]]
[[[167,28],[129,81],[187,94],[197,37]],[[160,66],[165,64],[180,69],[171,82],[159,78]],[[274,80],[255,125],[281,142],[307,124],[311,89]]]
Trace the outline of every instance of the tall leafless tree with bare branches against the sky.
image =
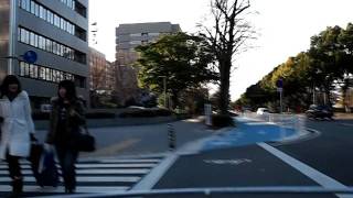
[[245,42],[254,38],[255,31],[246,21],[249,0],[211,0],[212,28],[202,28],[201,36],[207,38],[217,59],[220,72],[220,109],[227,113],[229,105],[229,78],[235,55],[246,50]]

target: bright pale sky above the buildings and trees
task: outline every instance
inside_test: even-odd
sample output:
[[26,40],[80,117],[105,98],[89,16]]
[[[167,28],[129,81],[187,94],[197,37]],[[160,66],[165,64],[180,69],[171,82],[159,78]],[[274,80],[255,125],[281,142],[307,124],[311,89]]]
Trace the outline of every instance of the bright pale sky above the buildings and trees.
[[[327,26],[345,28],[353,22],[352,8],[353,0],[250,0],[254,14],[248,20],[257,38],[252,41],[252,48],[235,57],[232,100],[288,57],[307,51],[311,36]],[[121,23],[169,21],[195,33],[196,23],[206,15],[210,0],[89,0],[89,24],[97,22],[98,29],[97,44],[90,46],[115,61],[115,29]]]

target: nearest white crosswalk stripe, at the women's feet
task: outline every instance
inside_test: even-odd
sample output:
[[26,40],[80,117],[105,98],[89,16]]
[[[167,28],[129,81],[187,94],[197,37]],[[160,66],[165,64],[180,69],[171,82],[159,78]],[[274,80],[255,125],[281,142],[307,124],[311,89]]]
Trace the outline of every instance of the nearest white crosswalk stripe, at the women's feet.
[[[106,186],[77,186],[76,187],[76,193],[108,193],[108,191],[126,191],[128,190],[129,187],[127,186],[117,186],[117,187],[106,187]],[[0,191],[11,191],[12,188],[10,185],[0,185]],[[53,187],[45,187],[41,188],[39,186],[29,186],[24,185],[23,186],[23,191],[28,193],[53,193],[53,194],[62,194],[64,193],[64,187],[58,186],[57,188]]]

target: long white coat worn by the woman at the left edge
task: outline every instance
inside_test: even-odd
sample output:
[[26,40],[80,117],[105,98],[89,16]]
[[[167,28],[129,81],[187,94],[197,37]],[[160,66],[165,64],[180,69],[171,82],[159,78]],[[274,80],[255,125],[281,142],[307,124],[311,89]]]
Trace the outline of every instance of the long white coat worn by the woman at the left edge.
[[31,105],[25,91],[21,91],[12,102],[8,97],[0,99],[1,143],[0,158],[10,155],[28,157],[30,155],[30,133],[34,133]]

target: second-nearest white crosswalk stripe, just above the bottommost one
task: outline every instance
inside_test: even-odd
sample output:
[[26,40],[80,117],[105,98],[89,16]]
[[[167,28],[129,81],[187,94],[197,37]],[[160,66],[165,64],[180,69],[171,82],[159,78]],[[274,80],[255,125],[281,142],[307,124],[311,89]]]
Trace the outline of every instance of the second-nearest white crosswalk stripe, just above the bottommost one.
[[[126,177],[85,177],[78,176],[76,177],[78,183],[137,183],[141,179],[141,177],[126,176]],[[0,182],[10,183],[12,179],[10,177],[0,177]],[[24,177],[24,183],[34,183],[35,178],[31,176]]]

